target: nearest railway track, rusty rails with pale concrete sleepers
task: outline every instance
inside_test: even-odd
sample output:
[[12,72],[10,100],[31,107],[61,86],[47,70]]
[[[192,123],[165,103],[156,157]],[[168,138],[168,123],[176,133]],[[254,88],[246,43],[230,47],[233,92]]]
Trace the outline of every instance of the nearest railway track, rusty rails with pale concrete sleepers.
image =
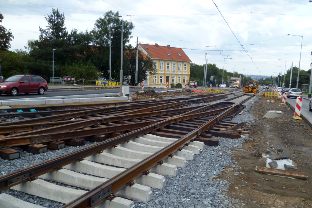
[[[185,112],[164,114],[167,116],[157,120],[114,125],[124,128],[134,123],[148,123],[87,148],[2,176],[0,190],[24,191],[59,201],[65,204],[63,207],[131,207],[133,202],[124,198],[149,201],[152,197],[150,187],[165,186],[162,175],[175,175],[177,167],[185,167],[186,160],[199,154],[204,144],[218,144],[212,135],[240,137],[233,130],[241,124],[230,120],[252,96],[245,97],[239,102],[227,102],[227,106],[222,101],[223,106],[216,109],[203,105]],[[0,201],[7,197],[1,195]],[[102,202],[104,205],[100,205]]]

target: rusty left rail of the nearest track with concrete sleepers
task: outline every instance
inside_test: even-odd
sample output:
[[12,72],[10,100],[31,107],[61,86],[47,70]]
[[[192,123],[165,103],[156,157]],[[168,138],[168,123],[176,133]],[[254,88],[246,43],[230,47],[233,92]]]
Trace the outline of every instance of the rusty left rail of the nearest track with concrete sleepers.
[[[248,98],[249,99],[249,98]],[[238,105],[239,103],[233,104],[232,109]],[[227,112],[230,111],[231,109],[226,110]],[[219,114],[222,115],[223,113]],[[188,120],[188,119],[194,119],[198,118],[200,116],[205,116],[205,112],[199,113],[199,114],[193,114],[193,115],[184,115],[184,116],[175,116],[170,119],[165,119],[162,122],[157,122],[154,124],[151,124],[147,127],[140,128],[138,130],[135,130],[133,132],[126,133],[122,136],[111,138],[109,140],[91,145],[89,147],[77,150],[75,152],[68,153],[66,155],[56,157],[54,159],[48,160],[46,162],[41,162],[39,164],[36,164],[31,167],[26,167],[24,169],[21,169],[16,172],[9,173],[7,175],[4,175],[0,177],[0,190],[6,190],[12,186],[15,186],[17,184],[20,184],[25,181],[32,181],[36,179],[36,177],[45,174],[47,172],[53,171],[53,170],[58,170],[59,168],[68,165],[72,162],[80,161],[85,157],[89,157],[93,154],[100,153],[105,149],[111,148],[111,147],[116,147],[116,145],[124,143],[125,141],[128,141],[130,139],[134,139],[137,136],[141,136],[145,133],[149,133],[151,131],[157,130],[161,127],[165,127],[166,125],[170,123],[175,123],[183,120]],[[217,121],[216,118],[212,119],[209,125],[212,125],[214,121]],[[198,132],[199,133],[199,132]],[[201,132],[200,132],[201,133]],[[168,156],[169,154],[167,154]],[[158,158],[159,161],[159,158]],[[146,170],[146,169],[145,169]],[[141,174],[141,173],[140,173]],[[128,180],[129,181],[129,180]],[[127,181],[127,182],[128,182]],[[100,189],[99,191],[102,191]]]

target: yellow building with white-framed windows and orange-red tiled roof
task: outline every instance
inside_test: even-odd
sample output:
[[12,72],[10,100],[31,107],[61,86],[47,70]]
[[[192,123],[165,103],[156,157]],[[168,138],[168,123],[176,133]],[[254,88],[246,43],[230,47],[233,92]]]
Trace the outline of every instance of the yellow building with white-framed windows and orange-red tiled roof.
[[183,87],[190,80],[191,60],[184,53],[182,48],[139,44],[138,49],[154,61],[155,75],[148,75],[144,80],[145,87],[166,88],[168,82],[171,84],[180,83]]

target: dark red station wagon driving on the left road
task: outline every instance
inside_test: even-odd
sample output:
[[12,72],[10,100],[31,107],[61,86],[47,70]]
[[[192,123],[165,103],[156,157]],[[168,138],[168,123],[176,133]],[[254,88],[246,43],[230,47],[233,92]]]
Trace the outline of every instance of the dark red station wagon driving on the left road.
[[10,94],[16,96],[18,93],[44,94],[48,90],[48,83],[37,75],[13,75],[0,82],[0,95]]

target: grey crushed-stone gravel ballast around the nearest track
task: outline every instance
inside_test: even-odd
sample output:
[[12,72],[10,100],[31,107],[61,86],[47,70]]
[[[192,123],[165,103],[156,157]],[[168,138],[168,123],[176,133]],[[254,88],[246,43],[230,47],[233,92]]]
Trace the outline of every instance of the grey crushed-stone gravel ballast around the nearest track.
[[[233,122],[254,123],[252,116],[248,113],[248,108],[252,103],[247,104],[244,113],[237,115]],[[229,139],[213,137],[219,139],[218,146],[205,146],[193,161],[188,161],[186,168],[178,168],[177,176],[166,176],[166,186],[164,189],[154,189],[153,199],[150,202],[134,201],[135,207],[147,208],[176,208],[176,207],[243,207],[244,202],[225,196],[228,187],[231,185],[227,181],[219,180],[216,177],[222,174],[224,167],[230,165],[233,171],[238,172],[239,167],[232,162],[232,152],[242,147],[244,140],[249,140],[248,135],[239,139]],[[81,147],[66,147],[64,149],[33,155],[19,148],[21,158],[8,161],[0,159],[0,176],[20,170],[22,168],[44,162],[46,160],[64,155],[69,152],[89,146],[90,142]],[[239,174],[239,173],[237,173]],[[19,191],[8,189],[4,193],[15,196],[24,201],[28,201],[44,207],[61,207],[63,204],[56,201],[47,200],[38,196],[32,196]]]

